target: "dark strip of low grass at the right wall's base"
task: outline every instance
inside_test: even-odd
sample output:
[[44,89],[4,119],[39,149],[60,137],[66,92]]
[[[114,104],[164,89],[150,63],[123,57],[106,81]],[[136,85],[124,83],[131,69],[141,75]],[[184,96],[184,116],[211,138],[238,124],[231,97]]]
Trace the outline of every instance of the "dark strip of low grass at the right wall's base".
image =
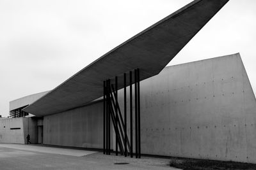
[[171,167],[176,167],[184,170],[213,170],[213,169],[228,169],[228,170],[253,170],[256,169],[256,164],[246,164],[239,162],[223,162],[216,160],[196,160],[196,159],[177,159],[173,158],[170,161]]

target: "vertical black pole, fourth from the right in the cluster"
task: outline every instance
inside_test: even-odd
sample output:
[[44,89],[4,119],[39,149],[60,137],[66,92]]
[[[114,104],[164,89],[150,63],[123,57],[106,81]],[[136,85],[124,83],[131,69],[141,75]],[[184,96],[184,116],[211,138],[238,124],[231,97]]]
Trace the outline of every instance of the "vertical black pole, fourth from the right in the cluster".
[[124,156],[127,157],[126,74],[124,73]]

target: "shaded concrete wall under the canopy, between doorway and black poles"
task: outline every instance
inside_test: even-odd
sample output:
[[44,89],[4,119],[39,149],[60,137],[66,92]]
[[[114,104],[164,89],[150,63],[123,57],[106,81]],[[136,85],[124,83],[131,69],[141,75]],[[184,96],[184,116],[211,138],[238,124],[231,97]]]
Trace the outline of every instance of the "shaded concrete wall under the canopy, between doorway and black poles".
[[102,148],[103,104],[44,117],[44,144]]

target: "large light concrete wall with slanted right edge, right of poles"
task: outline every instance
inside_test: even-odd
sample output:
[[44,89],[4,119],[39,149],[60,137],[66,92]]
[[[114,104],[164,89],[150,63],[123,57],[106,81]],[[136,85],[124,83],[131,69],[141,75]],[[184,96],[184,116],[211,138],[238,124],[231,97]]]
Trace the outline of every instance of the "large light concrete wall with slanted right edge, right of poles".
[[141,81],[141,153],[256,163],[256,101],[239,53]]

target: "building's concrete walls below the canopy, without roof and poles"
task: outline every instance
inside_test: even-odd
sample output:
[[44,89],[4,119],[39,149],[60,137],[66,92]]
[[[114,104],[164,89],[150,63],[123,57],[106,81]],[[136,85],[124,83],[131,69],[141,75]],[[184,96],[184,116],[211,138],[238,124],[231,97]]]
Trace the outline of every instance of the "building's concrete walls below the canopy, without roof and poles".
[[[256,100],[239,53],[165,67],[140,86],[141,153],[256,163]],[[124,110],[123,89],[118,96]],[[24,143],[29,127],[33,143],[43,130],[47,145],[102,148],[102,110],[97,99],[45,117],[0,120],[0,142]]]

